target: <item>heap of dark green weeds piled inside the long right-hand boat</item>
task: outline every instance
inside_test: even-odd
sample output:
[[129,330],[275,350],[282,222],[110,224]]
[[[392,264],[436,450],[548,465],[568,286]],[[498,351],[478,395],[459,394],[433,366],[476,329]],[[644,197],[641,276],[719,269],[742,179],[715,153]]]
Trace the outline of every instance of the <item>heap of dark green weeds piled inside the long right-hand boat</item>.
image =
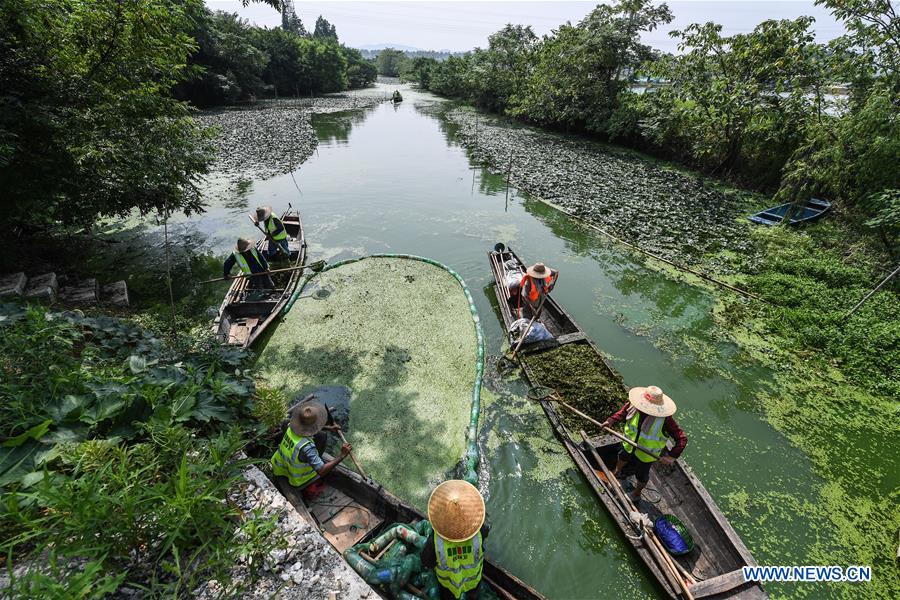
[[[612,374],[588,344],[564,344],[523,357],[536,384],[551,387],[562,400],[598,421],[622,408],[628,399],[618,374]],[[599,428],[565,407],[557,411],[569,431],[600,433]],[[580,439],[580,438],[579,438]]]

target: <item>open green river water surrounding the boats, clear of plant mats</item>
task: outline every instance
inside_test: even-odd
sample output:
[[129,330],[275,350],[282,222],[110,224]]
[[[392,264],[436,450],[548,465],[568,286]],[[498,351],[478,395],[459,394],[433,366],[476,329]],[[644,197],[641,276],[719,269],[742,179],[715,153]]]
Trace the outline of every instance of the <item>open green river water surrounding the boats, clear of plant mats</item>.
[[[498,374],[504,335],[486,254],[504,242],[526,261],[542,260],[561,271],[555,297],[625,381],[659,385],[677,401],[690,436],[684,457],[757,561],[806,564],[818,525],[791,508],[798,503],[778,499],[814,506],[823,481],[765,420],[754,398],[774,385],[772,373],[721,338],[710,316],[714,299],[538,200],[515,189],[507,200],[504,178],[473,167],[452,126],[423,110],[439,100],[405,88],[403,94],[399,106],[314,117],[318,152],[295,171],[302,195],[284,175],[248,182],[237,195],[213,200],[202,217],[173,218],[176,264],[194,277],[215,276],[235,236],[253,233],[251,208],[267,203],[280,211],[291,202],[306,226],[310,260],[402,252],[456,269],[475,296],[489,355],[480,471],[493,524],[488,551],[549,598],[658,597],[543,412],[526,401],[524,383]],[[132,226],[149,234],[145,246],[159,244],[155,223]],[[144,251],[129,245],[112,269],[127,269],[129,257]],[[153,285],[160,264],[148,267]],[[138,299],[140,285],[151,283],[133,283]],[[222,289],[203,288],[211,308]],[[187,284],[178,283],[176,293],[188,294]],[[834,591],[811,584],[768,589],[808,597]]]

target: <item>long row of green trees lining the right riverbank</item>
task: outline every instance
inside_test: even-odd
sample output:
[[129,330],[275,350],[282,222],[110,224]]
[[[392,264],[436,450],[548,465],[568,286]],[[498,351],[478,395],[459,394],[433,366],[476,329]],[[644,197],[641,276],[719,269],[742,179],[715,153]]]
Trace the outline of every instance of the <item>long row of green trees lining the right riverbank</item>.
[[810,17],[765,21],[732,36],[715,23],[694,24],[671,32],[679,54],[660,56],[640,35],[671,22],[668,7],[618,0],[542,39],[508,25],[486,49],[409,61],[405,76],[444,96],[625,143],[783,201],[821,195],[857,221],[877,219],[874,227],[896,233],[890,199],[900,189],[900,19],[888,0],[817,3],[846,35],[816,43]]

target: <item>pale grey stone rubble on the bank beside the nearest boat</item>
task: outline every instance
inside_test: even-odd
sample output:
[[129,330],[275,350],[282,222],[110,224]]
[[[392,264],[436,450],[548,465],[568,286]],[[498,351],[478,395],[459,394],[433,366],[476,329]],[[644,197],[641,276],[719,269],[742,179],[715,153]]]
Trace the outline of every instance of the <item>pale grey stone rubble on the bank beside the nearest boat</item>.
[[258,565],[256,581],[250,583],[250,560],[232,569],[226,589],[211,580],[194,590],[201,600],[234,597],[280,598],[284,600],[376,600],[379,596],[350,568],[319,531],[300,516],[275,485],[256,467],[244,471],[244,479],[229,493],[229,501],[244,513],[259,511],[261,518],[277,515],[277,528],[270,536],[271,551]]

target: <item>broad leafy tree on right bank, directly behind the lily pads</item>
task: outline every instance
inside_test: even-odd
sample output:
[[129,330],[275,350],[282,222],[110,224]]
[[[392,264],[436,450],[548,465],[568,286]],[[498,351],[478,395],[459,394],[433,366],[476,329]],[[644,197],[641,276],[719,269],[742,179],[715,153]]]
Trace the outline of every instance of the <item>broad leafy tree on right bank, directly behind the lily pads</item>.
[[669,84],[645,96],[642,133],[710,172],[777,183],[806,119],[823,110],[815,101],[824,96],[827,61],[812,21],[765,21],[730,37],[714,23],[673,32],[681,54],[648,69]]

